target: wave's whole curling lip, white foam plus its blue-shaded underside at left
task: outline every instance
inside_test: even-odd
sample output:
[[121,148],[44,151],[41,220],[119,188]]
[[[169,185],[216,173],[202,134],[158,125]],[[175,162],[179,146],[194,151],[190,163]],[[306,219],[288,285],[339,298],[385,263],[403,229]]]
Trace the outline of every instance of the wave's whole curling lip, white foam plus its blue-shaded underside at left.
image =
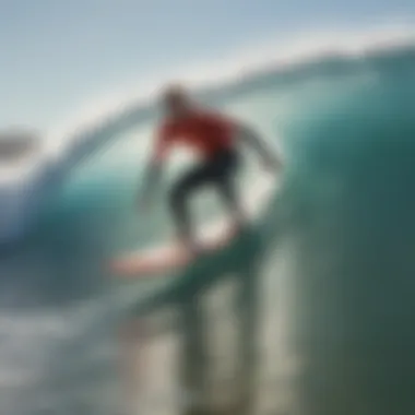
[[252,90],[265,75],[308,76],[333,59],[340,62],[337,68],[347,68],[344,62],[413,48],[415,31],[407,24],[396,24],[360,32],[299,34],[297,39],[248,47],[220,64],[188,64],[170,71],[165,79],[146,80],[138,93],[109,95],[87,106],[90,109],[81,111],[76,121],[49,131],[32,156],[20,161],[15,168],[0,168],[0,241],[24,235],[36,222],[45,200],[82,159],[131,127],[155,117],[154,99],[167,79],[186,82],[204,99],[217,102]]

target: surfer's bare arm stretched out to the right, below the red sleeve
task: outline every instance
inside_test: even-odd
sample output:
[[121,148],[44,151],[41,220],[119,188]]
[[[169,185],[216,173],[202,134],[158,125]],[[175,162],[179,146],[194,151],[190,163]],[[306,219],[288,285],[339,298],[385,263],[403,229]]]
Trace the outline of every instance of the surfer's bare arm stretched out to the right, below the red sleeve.
[[242,123],[238,124],[237,137],[261,156],[266,167],[274,170],[280,170],[283,167],[283,161],[280,154],[272,149],[251,127]]

